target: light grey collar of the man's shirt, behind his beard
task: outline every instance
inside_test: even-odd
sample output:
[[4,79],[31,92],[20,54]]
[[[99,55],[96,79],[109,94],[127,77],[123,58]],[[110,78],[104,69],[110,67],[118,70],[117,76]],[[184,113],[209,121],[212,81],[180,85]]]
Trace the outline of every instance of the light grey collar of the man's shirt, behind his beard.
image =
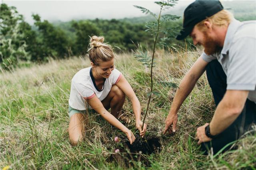
[[228,25],[228,30],[225,36],[225,40],[224,40],[224,45],[221,51],[221,54],[226,55],[229,48],[230,48],[230,44],[232,42],[232,39],[234,37],[234,34],[236,33],[236,30],[238,29],[238,27],[242,25],[242,22],[233,19],[230,24]]

